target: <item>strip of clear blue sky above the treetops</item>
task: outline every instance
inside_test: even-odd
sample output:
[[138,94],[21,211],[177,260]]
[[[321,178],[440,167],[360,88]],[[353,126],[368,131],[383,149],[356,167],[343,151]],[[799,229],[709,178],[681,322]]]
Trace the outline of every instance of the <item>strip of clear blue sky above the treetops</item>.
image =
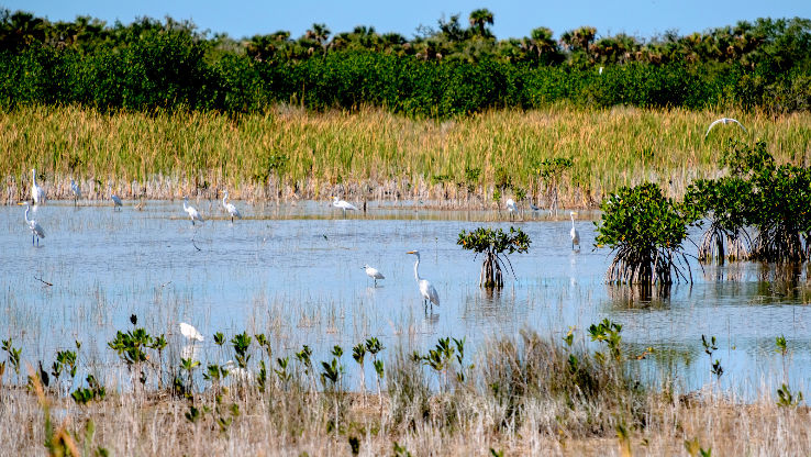
[[235,38],[278,30],[298,37],[315,22],[325,23],[333,33],[371,25],[380,33],[398,32],[411,38],[419,25],[435,26],[443,15],[459,13],[466,23],[470,11],[477,8],[493,12],[492,30],[500,40],[527,36],[537,26],[552,29],[555,37],[580,25],[592,25],[598,37],[624,32],[649,38],[671,29],[689,34],[756,18],[811,18],[811,0],[502,0],[491,4],[457,0],[7,0],[2,5],[52,21],[90,15],[112,24],[115,20],[130,23],[137,16],[170,15],[190,19],[201,30],[226,32]]

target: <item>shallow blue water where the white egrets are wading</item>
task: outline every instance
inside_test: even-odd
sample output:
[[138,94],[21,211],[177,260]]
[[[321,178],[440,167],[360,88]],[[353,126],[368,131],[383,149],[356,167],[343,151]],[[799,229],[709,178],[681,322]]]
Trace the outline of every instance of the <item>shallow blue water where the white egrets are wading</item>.
[[[24,209],[0,207],[0,337],[13,337],[24,359],[48,366],[57,349],[79,339],[82,363],[104,366],[115,361],[107,342],[136,314],[153,334],[173,333],[175,352],[182,344],[177,323],[193,324],[205,335],[197,352],[203,361],[222,361],[213,332],[246,330],[270,335],[274,357],[308,344],[321,360],[340,344],[351,374],[351,346],[368,336],[389,352],[465,337],[471,354],[488,338],[522,328],[558,337],[574,325],[586,341],[588,326],[608,317],[623,324],[632,353],[656,349],[637,365],[651,382],[665,375],[686,390],[711,382],[702,334],[716,336],[721,384],[736,394],[774,392],[782,382],[778,335],[791,349],[792,387],[806,390],[811,374],[804,274],[796,283],[769,285],[758,280],[759,265],[702,270],[693,263],[692,285],[674,287],[668,299],[641,301],[603,283],[610,253],[593,248],[592,222],[578,221],[582,248],[573,250],[571,222],[563,212],[557,219],[527,212],[513,224],[530,235],[530,252],[511,256],[515,277],[506,271],[504,289],[489,297],[478,287],[479,259],[456,238],[463,228],[509,227],[508,221],[493,222],[496,212],[373,203],[365,214],[344,218],[325,202],[234,203],[245,219],[232,224],[218,201],[192,202],[209,219],[192,226],[180,201],[149,201],[143,211],[125,202],[120,212],[51,201],[32,214],[46,233],[38,248],[31,245]],[[588,216],[598,215],[580,213]],[[414,280],[414,256],[406,254],[412,249],[421,252],[420,274],[441,298],[429,313]],[[386,279],[374,287],[364,264]]]

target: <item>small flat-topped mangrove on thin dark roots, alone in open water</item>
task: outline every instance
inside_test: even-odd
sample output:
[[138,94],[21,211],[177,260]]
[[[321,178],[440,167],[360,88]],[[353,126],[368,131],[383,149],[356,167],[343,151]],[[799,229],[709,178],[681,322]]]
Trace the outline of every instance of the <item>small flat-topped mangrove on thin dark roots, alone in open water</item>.
[[501,288],[504,281],[501,275],[501,265],[507,264],[515,277],[512,264],[507,255],[526,253],[530,249],[530,237],[521,228],[510,227],[510,232],[478,227],[473,232],[462,231],[456,244],[463,249],[473,250],[478,256],[484,254],[479,286],[485,289]]

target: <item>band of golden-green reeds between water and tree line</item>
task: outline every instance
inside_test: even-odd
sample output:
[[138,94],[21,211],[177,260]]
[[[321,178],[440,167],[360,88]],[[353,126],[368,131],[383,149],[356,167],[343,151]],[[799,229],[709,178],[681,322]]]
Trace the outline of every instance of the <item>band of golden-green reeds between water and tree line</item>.
[[[721,116],[738,129],[713,129]],[[547,183],[537,164],[571,158],[557,185],[567,207],[595,208],[621,186],[658,183],[680,197],[696,178],[714,177],[732,140],[766,142],[778,163],[804,165],[811,114],[584,109],[551,105],[500,110],[448,121],[419,120],[379,109],[316,113],[277,105],[264,113],[114,112],[79,107],[21,107],[0,113],[5,201],[27,198],[31,168],[48,198],[71,197],[70,178],[90,199],[438,200],[486,207],[493,191],[525,192],[543,203]]]

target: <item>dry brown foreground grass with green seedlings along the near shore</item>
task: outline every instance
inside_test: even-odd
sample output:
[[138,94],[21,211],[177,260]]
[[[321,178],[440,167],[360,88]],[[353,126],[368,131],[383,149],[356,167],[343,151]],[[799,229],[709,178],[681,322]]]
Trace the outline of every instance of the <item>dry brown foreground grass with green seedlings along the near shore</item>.
[[[110,342],[119,354],[145,347],[122,335],[163,339],[135,322]],[[660,389],[640,383],[638,367],[655,348],[635,354],[623,344],[621,324],[603,320],[591,325],[591,344],[584,336],[574,327],[562,339],[523,331],[519,337],[491,341],[473,357],[464,338],[440,338],[424,353],[400,347],[384,357],[391,349],[370,337],[353,350],[362,370],[360,354],[373,356],[377,399],[367,403],[365,388],[353,391],[347,382],[341,346],[316,364],[304,345],[293,350],[293,361],[275,353],[264,334],[243,332],[227,341],[216,333],[220,349],[213,359],[199,360],[192,352],[179,360],[146,357],[136,369],[126,357],[118,368],[81,366],[82,372],[96,372],[87,376],[87,388],[75,380],[49,382],[44,370],[30,368],[27,389],[19,376],[16,383],[0,384],[3,404],[14,404],[0,409],[0,433],[14,437],[5,442],[11,453],[38,453],[44,446],[49,455],[79,455],[79,448],[81,455],[138,454],[167,445],[168,456],[245,454],[268,446],[355,455],[390,454],[392,448],[399,455],[487,449],[591,454],[619,446],[671,455],[686,441],[721,454],[808,448],[802,392],[785,382],[777,390],[779,400],[767,394],[752,406],[733,405],[712,392],[681,395],[670,383]],[[706,348],[718,349],[714,337],[702,341]],[[778,337],[777,345],[788,353],[785,338]],[[119,370],[124,382],[105,391],[102,384],[118,378]],[[713,370],[720,377],[718,360]],[[70,390],[73,401],[66,397]],[[706,427],[710,419],[718,426]],[[731,432],[737,439],[729,439]]]

